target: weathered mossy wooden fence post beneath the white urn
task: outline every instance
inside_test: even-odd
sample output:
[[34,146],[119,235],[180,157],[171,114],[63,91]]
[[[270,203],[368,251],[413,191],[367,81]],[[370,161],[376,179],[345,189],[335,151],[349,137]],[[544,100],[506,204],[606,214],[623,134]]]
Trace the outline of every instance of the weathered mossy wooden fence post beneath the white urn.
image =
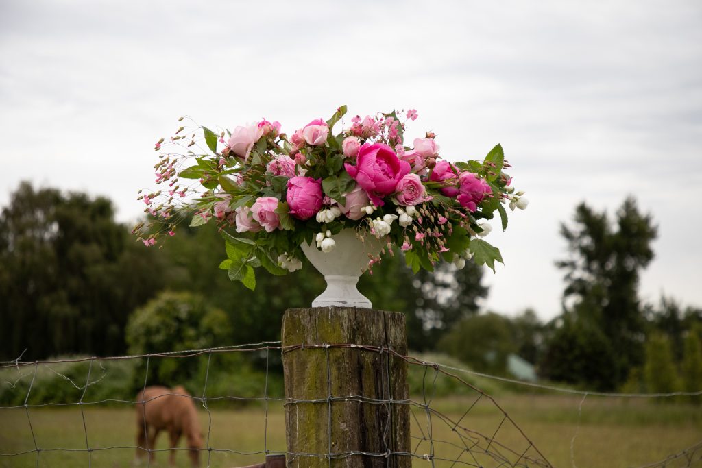
[[289,309],[282,345],[288,467],[411,467],[404,314]]

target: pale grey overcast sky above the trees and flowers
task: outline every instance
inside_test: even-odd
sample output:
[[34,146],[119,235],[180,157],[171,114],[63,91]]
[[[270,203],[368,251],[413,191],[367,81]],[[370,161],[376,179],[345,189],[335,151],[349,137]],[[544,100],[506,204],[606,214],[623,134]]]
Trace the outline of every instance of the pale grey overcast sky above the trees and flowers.
[[451,161],[503,145],[531,203],[488,238],[486,308],[559,313],[559,222],[627,195],[658,225],[644,300],[702,307],[699,1],[0,1],[2,206],[32,180],[131,222],[178,117],[290,133],[342,104],[418,109]]

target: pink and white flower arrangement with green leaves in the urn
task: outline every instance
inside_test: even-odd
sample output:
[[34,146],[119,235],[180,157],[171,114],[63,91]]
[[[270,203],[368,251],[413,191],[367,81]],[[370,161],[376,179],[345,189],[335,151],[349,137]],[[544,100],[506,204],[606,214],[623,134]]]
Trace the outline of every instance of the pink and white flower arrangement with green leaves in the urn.
[[265,119],[219,133],[195,123],[181,126],[155,146],[156,182],[168,189],[140,192],[153,218],[135,233],[150,246],[166,232],[176,234],[184,213],[192,215],[191,226],[216,222],[227,252],[220,268],[251,289],[257,267],[294,272],[302,267],[302,243],[329,253],[334,235],[346,228],[361,240],[383,241],[380,255],[370,255],[371,274],[393,246],[414,272],[431,271],[440,261],[462,268],[471,258],[494,271],[503,260],[482,239],[491,229],[484,220],[497,212],[506,229],[505,206],[524,209],[528,203],[503,172],[510,165],[502,147],[483,161],[450,163],[439,156],[432,132],[406,145],[414,109],[355,116],[333,133],[345,113],[346,106],[339,107],[331,119],[315,119],[290,136],[279,122]]

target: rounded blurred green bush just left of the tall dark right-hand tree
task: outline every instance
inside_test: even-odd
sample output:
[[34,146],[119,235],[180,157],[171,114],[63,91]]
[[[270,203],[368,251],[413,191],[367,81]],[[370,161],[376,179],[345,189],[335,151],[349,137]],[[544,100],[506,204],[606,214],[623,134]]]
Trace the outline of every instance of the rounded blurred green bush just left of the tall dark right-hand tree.
[[509,319],[493,313],[457,323],[439,342],[439,349],[482,373],[505,375],[508,356],[517,351]]

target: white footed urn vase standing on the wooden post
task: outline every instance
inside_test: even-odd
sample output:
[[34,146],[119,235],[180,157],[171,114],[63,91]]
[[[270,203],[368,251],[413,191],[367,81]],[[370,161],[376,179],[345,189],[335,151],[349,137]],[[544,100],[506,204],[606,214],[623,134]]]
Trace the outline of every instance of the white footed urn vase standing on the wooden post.
[[377,257],[383,244],[371,234],[364,236],[364,241],[361,241],[355,229],[343,229],[331,239],[336,244],[327,253],[319,250],[314,241],[312,245],[303,243],[300,246],[312,266],[324,275],[326,281],[324,293],[312,301],[312,307],[337,305],[370,309],[371,301],[359,292],[357,284],[363,272],[368,269],[368,254]]

